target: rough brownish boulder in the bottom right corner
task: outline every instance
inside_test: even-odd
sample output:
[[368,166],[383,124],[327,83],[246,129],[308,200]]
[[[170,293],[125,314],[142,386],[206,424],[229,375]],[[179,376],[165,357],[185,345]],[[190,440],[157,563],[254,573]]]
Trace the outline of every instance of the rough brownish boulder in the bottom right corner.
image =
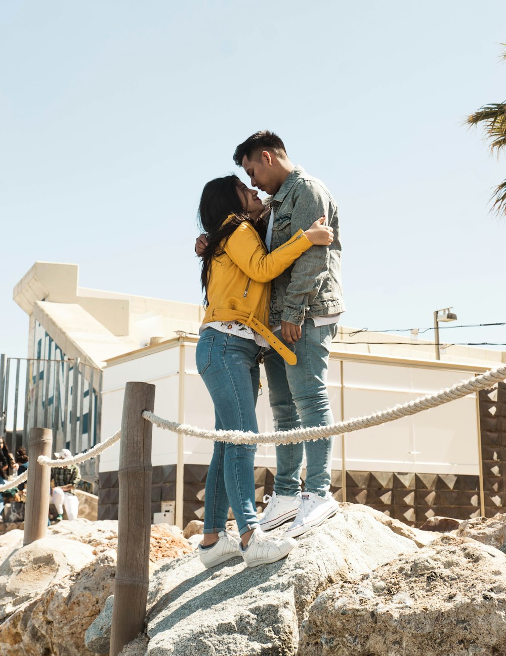
[[506,556],[444,535],[323,592],[298,655],[499,656],[505,616]]

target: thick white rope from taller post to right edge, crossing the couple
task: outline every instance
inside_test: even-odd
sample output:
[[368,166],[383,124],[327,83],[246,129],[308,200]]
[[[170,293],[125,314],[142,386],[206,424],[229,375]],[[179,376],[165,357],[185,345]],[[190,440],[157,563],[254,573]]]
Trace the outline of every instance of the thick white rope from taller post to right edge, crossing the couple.
[[204,438],[204,440],[216,440],[221,442],[231,442],[234,444],[296,444],[306,440],[319,440],[321,438],[329,438],[332,435],[351,433],[355,430],[361,430],[362,428],[379,426],[379,424],[384,424],[388,421],[401,419],[401,417],[409,417],[409,415],[415,415],[423,410],[438,407],[438,405],[449,403],[449,401],[455,401],[456,399],[472,394],[473,392],[478,392],[478,390],[489,389],[496,382],[505,379],[506,366],[497,367],[497,369],[491,369],[481,376],[465,380],[464,382],[456,384],[446,390],[442,390],[437,394],[427,394],[415,401],[409,401],[403,405],[396,405],[393,408],[389,408],[367,417],[348,419],[346,421],[341,421],[338,424],[332,424],[331,426],[294,428],[292,430],[278,430],[270,433],[253,433],[251,431],[246,432],[241,430],[204,430],[203,428],[189,426],[189,424],[178,424],[174,421],[162,419],[147,410],[143,412],[143,417],[159,428],[172,430],[175,433],[189,435],[195,438]]

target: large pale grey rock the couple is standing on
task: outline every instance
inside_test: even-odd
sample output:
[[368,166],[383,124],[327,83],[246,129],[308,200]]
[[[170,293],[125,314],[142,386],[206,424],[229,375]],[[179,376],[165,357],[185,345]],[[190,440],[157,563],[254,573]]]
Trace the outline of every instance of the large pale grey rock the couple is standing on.
[[206,570],[196,553],[165,563],[150,583],[147,655],[294,655],[319,592],[413,551],[413,539],[350,504],[271,565],[234,558]]

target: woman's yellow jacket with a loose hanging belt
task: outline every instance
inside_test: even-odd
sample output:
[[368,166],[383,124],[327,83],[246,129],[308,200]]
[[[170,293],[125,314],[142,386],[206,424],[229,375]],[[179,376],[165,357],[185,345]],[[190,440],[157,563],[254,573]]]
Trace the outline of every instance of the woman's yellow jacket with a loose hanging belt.
[[210,268],[204,323],[237,320],[262,335],[289,364],[297,359],[269,329],[271,280],[313,244],[301,229],[272,253],[258,232],[244,221],[225,243],[223,255]]

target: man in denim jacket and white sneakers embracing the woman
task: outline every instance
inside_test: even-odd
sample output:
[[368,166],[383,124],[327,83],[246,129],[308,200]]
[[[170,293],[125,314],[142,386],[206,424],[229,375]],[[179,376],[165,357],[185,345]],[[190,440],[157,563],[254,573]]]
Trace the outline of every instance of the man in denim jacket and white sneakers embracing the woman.
[[[265,237],[269,251],[319,216],[325,215],[334,229],[330,247],[313,246],[272,283],[269,323],[295,352],[296,365],[285,363],[273,349],[264,358],[275,429],[328,426],[334,423],[327,394],[329,351],[345,309],[336,203],[323,182],[292,164],[277,134],[252,134],[237,146],[234,161],[253,186],[270,194],[265,199],[271,205]],[[196,252],[204,245],[201,235]],[[286,533],[296,537],[337,512],[338,503],[329,492],[332,449],[333,438],[276,447],[274,492],[265,497],[269,502],[260,519],[262,530],[293,520]],[[307,473],[301,494],[304,451]]]

